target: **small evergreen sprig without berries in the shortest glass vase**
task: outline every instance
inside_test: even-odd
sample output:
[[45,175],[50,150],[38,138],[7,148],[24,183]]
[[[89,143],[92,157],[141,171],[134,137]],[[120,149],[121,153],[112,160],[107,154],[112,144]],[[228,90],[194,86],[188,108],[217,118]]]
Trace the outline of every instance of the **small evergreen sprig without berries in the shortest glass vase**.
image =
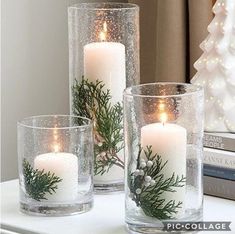
[[54,173],[34,169],[26,159],[23,159],[23,176],[28,196],[36,201],[47,200],[46,195],[55,193],[62,181]]

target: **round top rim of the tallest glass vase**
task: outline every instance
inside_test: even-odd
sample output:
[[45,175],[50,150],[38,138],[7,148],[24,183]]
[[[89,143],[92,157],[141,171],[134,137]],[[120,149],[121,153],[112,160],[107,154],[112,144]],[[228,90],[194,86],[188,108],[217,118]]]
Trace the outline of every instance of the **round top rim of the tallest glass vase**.
[[[112,6],[112,7],[105,7]],[[119,6],[119,7],[118,7]],[[121,6],[121,7],[120,7]],[[68,7],[73,10],[105,10],[105,11],[114,11],[114,10],[132,10],[139,9],[139,6],[134,3],[124,3],[124,2],[84,2],[84,3],[76,3]]]

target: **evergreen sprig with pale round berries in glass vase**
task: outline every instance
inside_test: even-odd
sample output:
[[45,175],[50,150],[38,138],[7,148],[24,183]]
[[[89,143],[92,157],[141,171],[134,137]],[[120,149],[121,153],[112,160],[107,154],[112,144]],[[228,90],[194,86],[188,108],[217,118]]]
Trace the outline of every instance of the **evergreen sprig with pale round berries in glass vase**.
[[[144,155],[143,159],[141,156]],[[137,157],[136,170],[128,176],[130,197],[138,207],[141,207],[145,215],[163,219],[172,219],[182,208],[182,202],[174,200],[166,201],[165,192],[176,192],[175,188],[184,187],[186,178],[172,174],[165,178],[162,173],[167,161],[152,152],[152,147],[147,146],[145,150],[141,147]]]

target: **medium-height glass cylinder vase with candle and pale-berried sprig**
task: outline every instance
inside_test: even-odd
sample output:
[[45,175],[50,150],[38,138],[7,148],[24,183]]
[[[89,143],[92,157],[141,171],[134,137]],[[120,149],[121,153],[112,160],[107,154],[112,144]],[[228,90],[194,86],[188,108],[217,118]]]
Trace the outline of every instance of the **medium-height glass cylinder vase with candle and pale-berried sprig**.
[[153,83],[124,92],[126,224],[161,233],[165,222],[202,221],[203,90]]

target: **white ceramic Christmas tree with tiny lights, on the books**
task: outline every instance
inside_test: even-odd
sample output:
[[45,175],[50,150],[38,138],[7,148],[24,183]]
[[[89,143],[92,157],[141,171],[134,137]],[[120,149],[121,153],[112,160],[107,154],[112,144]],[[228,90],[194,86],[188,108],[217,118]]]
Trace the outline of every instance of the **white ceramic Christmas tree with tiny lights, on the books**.
[[235,0],[217,0],[191,82],[205,89],[205,131],[235,132]]

